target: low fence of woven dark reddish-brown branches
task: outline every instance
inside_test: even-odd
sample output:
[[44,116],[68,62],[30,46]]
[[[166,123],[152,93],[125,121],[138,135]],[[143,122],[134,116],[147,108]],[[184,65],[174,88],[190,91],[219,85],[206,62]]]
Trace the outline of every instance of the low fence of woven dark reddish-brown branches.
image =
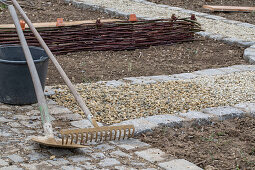
[[[195,16],[191,18],[121,21],[69,27],[38,29],[55,54],[84,50],[134,50],[156,45],[193,41],[194,33],[201,31]],[[24,34],[30,46],[40,46],[30,30]],[[0,30],[0,45],[19,44],[15,30]]]

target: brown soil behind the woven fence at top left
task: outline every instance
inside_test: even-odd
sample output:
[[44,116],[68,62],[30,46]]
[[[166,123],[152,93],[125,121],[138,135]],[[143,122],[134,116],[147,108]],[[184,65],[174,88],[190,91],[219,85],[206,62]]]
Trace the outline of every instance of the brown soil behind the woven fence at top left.
[[[18,0],[18,2],[32,22],[54,22],[57,21],[57,18],[63,18],[64,21],[112,18],[106,13],[75,8],[71,4],[64,3],[63,0]],[[2,4],[0,3],[0,5]],[[17,14],[22,19],[18,11]],[[7,7],[0,6],[0,21],[1,24],[13,24]]]

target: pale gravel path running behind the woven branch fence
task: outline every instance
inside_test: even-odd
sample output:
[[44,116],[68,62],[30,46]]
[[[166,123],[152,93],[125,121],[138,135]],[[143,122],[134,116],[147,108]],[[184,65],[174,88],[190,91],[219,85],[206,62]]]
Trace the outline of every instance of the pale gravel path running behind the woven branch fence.
[[197,20],[201,23],[202,28],[206,32],[213,34],[224,35],[226,37],[236,38],[244,41],[255,41],[255,26],[245,23],[229,22],[223,17],[213,15],[202,15],[195,11],[185,10],[167,5],[159,5],[156,3],[147,2],[144,0],[66,0],[67,2],[85,3],[94,6],[95,8],[104,8],[110,11],[116,11],[122,14],[136,14],[143,18],[170,18],[172,14],[178,17],[189,17],[194,13],[197,15]]

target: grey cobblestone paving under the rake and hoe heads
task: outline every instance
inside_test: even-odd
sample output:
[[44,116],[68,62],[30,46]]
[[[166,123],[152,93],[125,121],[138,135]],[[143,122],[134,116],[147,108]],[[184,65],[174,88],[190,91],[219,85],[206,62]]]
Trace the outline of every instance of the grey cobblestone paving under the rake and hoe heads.
[[[68,109],[49,101],[54,132],[82,121]],[[81,125],[76,125],[81,126]],[[171,169],[196,165],[174,159],[138,139],[111,141],[82,149],[56,149],[40,146],[29,139],[43,135],[37,105],[10,106],[0,103],[0,170],[19,169]],[[55,134],[56,135],[56,134]],[[174,160],[174,161],[173,161]]]

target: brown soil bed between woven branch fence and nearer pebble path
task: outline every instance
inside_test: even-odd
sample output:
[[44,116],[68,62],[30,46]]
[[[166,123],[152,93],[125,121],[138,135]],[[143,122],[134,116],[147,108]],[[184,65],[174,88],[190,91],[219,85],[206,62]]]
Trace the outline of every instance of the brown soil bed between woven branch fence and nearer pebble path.
[[[69,53],[57,56],[57,60],[74,83],[171,75],[247,64],[242,57],[244,48],[203,37],[197,39],[194,42],[131,51]],[[49,64],[47,84],[63,84],[52,63]]]

